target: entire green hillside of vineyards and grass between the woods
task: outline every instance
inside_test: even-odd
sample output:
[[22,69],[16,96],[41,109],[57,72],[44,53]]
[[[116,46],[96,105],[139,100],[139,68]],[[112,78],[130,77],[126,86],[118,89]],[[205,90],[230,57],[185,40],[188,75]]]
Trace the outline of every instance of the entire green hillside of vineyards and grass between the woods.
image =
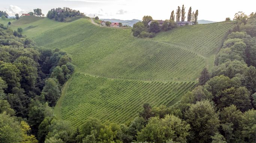
[[[75,126],[88,117],[124,123],[138,115],[142,104],[173,105],[197,83],[234,23],[183,26],[139,39],[130,28],[73,22],[22,19],[12,24],[45,48],[59,48],[72,56],[76,73],[64,87],[57,117]],[[61,102],[61,103],[60,103]]]

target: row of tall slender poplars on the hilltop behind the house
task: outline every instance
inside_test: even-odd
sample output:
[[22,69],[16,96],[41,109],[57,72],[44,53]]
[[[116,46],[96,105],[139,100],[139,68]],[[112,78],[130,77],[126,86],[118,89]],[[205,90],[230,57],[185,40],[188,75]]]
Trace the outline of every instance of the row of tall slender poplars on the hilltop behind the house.
[[[178,9],[177,9],[177,12],[176,12],[176,22],[178,22],[180,20],[185,21],[185,19],[186,19],[185,8],[186,7],[184,7],[184,4],[182,5],[182,9],[180,9],[180,6],[178,6]],[[174,10],[172,10],[170,20],[173,20],[173,21],[175,20]],[[196,10],[196,12],[192,13],[192,8],[190,6],[189,12],[187,14],[187,21],[190,21],[193,24],[197,24],[198,23],[197,20],[198,20],[198,10]]]

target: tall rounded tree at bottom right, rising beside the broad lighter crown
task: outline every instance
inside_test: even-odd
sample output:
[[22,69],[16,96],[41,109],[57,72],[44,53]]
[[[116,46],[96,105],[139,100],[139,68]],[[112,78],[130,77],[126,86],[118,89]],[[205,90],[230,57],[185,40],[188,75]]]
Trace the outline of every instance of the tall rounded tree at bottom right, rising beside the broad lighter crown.
[[209,101],[198,101],[190,105],[184,115],[191,127],[192,143],[210,142],[211,136],[220,126],[219,116]]

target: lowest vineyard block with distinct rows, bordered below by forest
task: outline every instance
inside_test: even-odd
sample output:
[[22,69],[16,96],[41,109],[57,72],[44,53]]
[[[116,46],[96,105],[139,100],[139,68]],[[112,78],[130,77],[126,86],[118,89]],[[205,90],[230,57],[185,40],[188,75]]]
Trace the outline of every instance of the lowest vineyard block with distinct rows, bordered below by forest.
[[108,79],[75,73],[61,104],[61,118],[75,127],[88,117],[125,123],[138,115],[144,103],[175,104],[195,84]]

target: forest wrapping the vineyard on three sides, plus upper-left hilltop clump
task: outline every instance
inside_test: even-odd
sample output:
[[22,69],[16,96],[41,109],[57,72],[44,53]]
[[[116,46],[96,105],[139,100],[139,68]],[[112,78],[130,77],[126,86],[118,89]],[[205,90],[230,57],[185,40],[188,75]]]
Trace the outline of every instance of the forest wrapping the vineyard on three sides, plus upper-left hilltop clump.
[[234,21],[213,70],[202,70],[180,102],[145,103],[125,124],[88,118],[77,128],[53,113],[75,70],[72,57],[1,24],[0,143],[255,143],[256,13],[237,13]]

